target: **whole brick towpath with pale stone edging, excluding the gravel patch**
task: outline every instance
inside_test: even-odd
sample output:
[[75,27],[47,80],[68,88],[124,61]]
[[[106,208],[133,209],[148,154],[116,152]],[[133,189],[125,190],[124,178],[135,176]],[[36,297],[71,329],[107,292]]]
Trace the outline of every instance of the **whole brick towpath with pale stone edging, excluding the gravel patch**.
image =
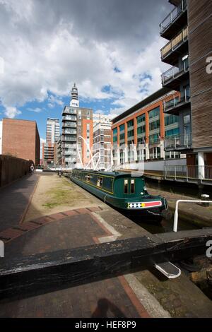
[[[49,213],[20,224],[37,179],[36,175],[25,177],[0,191],[4,259],[148,233],[105,203],[100,204],[94,196],[95,206],[90,201],[91,206]],[[12,201],[15,203],[11,204]],[[167,311],[177,317],[211,317],[212,304],[184,273],[177,280],[162,283],[150,271],[37,293],[25,299],[0,301],[0,317],[144,318],[166,317]]]

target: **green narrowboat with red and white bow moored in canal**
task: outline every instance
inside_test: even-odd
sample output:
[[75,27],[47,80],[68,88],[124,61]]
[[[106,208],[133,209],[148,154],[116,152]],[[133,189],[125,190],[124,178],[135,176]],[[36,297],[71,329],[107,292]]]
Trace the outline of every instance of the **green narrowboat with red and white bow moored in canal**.
[[126,215],[145,215],[151,220],[161,220],[162,211],[167,209],[165,198],[148,194],[143,176],[73,169],[70,179]]

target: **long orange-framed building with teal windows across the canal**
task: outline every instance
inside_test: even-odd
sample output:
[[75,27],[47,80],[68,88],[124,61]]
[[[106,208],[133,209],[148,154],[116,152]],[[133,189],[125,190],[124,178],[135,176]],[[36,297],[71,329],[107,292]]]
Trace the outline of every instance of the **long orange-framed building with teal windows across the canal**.
[[[129,161],[180,158],[178,151],[166,151],[165,138],[179,133],[179,117],[163,111],[165,103],[179,97],[179,93],[161,88],[146,99],[127,109],[112,120],[112,145],[136,146],[136,152],[124,148],[114,155],[117,165]],[[140,150],[139,146],[143,148]],[[115,163],[115,162],[114,162]]]

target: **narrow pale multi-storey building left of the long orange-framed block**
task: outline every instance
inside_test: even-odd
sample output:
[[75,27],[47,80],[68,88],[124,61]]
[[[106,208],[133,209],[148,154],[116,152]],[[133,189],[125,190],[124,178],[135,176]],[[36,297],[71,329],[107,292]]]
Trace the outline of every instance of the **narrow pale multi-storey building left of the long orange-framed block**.
[[93,155],[100,157],[98,168],[107,169],[111,165],[111,123],[100,122],[93,126]]

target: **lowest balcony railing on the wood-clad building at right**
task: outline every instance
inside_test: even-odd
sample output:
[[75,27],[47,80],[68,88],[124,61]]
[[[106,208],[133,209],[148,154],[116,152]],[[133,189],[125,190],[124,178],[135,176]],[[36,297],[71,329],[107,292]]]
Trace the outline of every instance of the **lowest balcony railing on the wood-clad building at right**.
[[192,134],[176,135],[165,138],[165,150],[179,150],[180,148],[192,148]]

